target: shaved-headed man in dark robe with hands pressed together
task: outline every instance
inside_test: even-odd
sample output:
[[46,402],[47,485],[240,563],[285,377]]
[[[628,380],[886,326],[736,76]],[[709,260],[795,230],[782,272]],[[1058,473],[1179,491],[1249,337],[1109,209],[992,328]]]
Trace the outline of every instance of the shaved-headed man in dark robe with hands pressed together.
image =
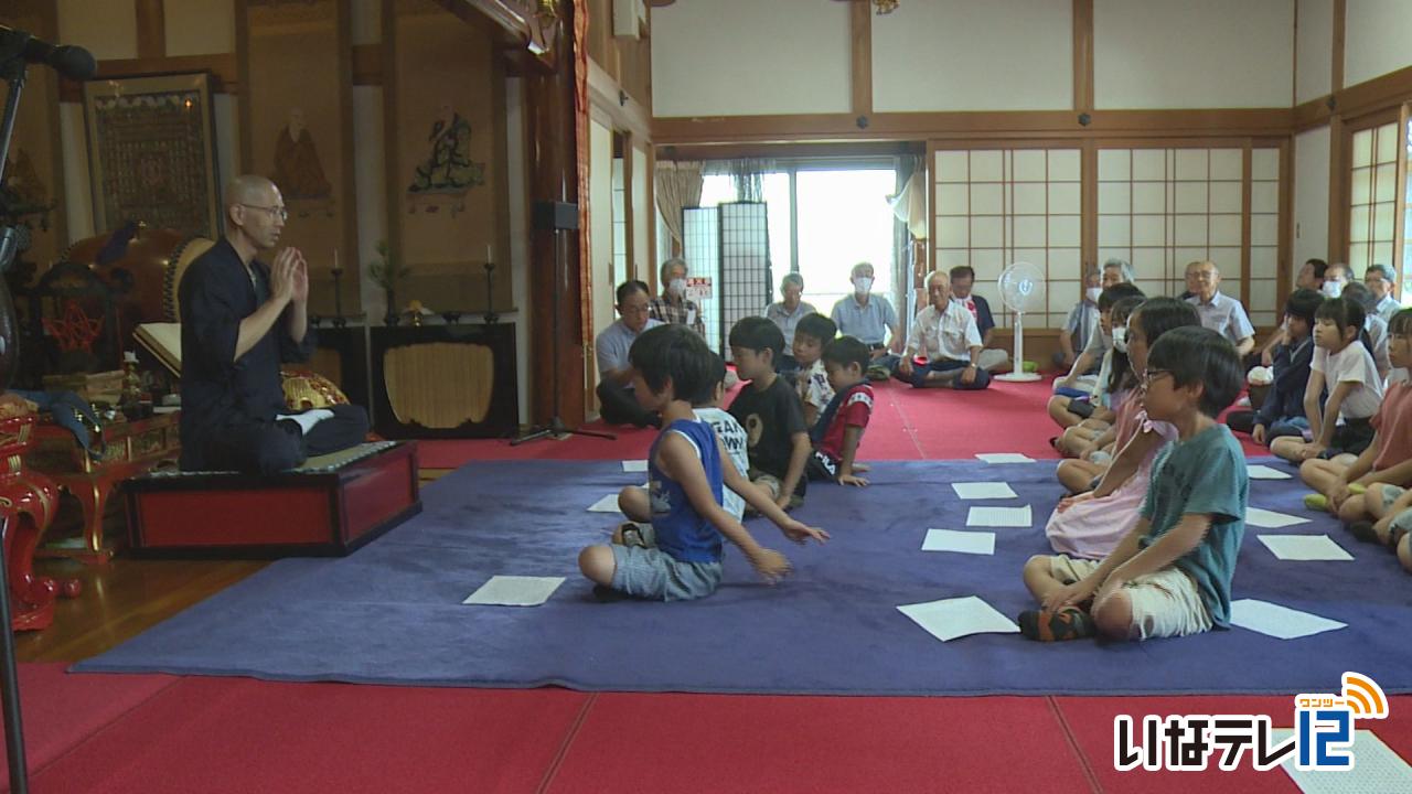
[[226,237],[182,275],[181,468],[271,473],[353,446],[367,411],[285,407],[280,363],[309,357],[309,273],[298,249],[273,267],[256,259],[280,242],[288,212],[264,177],[226,188]]

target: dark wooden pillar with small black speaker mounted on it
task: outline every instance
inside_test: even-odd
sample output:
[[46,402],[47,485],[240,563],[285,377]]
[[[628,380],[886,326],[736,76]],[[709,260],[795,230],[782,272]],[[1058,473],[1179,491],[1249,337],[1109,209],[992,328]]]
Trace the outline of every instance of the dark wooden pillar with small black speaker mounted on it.
[[[579,203],[578,131],[573,110],[573,3],[556,0],[559,24],[551,45],[554,69],[525,79],[530,158],[530,403],[531,421],[555,414],[569,428],[583,422],[583,277],[579,232],[537,222],[546,202]],[[576,215],[576,213],[575,213]],[[554,311],[558,295],[558,314]]]

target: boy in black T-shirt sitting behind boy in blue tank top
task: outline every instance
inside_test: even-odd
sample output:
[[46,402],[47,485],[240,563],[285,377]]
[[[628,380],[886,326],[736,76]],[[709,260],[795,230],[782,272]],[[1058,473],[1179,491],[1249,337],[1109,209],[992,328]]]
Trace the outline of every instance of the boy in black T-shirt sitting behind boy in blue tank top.
[[746,428],[750,480],[779,507],[803,502],[803,468],[809,461],[809,432],[794,389],[775,374],[785,335],[762,316],[747,316],[730,329],[730,357],[750,386],[740,390],[730,415]]

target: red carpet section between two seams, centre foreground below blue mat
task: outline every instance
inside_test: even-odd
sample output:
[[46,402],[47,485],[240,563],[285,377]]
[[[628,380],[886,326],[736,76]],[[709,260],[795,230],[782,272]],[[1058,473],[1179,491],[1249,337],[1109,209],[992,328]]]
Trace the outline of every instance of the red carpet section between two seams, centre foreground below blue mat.
[[1046,698],[600,695],[549,788],[1083,791]]

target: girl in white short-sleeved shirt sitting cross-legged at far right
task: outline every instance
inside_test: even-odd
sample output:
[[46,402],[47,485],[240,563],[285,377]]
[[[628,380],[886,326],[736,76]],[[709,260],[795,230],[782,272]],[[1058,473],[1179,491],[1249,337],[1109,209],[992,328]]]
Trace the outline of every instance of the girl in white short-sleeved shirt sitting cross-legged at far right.
[[[1368,348],[1358,340],[1363,319],[1363,307],[1348,298],[1329,298],[1315,309],[1315,357],[1305,387],[1312,441],[1285,437],[1269,445],[1275,455],[1300,463],[1300,476],[1315,489],[1347,470],[1372,444],[1372,415],[1382,403],[1382,379]],[[1324,384],[1329,400],[1320,410]],[[1326,462],[1303,466],[1320,458]]]

